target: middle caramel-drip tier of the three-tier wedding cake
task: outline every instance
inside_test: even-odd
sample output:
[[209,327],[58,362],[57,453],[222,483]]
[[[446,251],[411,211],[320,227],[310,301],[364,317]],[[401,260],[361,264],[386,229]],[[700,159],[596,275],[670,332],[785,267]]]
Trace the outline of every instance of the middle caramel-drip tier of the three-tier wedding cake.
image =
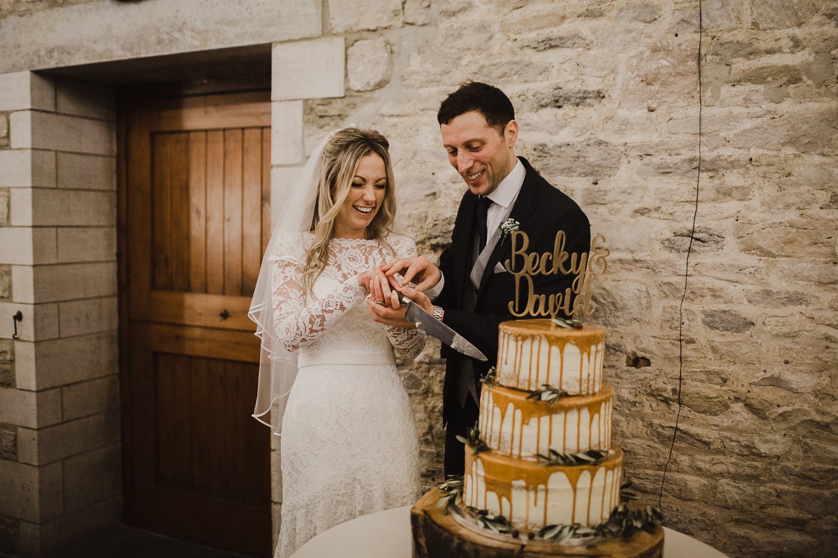
[[478,429],[494,452],[537,459],[550,448],[561,453],[611,447],[614,390],[608,384],[593,395],[560,397],[554,402],[527,399],[529,391],[484,385]]

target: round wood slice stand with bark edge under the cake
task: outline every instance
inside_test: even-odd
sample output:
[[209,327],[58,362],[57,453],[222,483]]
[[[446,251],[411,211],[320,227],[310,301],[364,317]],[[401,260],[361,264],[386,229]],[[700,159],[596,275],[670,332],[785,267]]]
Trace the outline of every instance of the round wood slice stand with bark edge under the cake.
[[[442,514],[437,500],[445,493],[432,489],[411,508],[413,558],[536,558],[541,556],[579,556],[591,558],[660,558],[664,550],[664,528],[649,535],[639,531],[630,540],[612,539],[598,545],[556,545],[544,540],[527,544],[484,536],[463,524],[452,514]],[[506,537],[503,537],[505,539]]]

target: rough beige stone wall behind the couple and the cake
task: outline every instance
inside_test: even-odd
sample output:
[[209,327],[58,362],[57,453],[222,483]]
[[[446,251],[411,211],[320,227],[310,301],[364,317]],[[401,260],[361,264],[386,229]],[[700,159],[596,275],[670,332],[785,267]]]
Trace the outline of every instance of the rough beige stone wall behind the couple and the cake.
[[[165,19],[167,9],[159,0],[58,4],[0,0],[0,47],[20,50],[21,41],[3,39],[3,30],[13,29],[13,18],[23,22],[24,12],[37,28],[92,21],[94,9],[112,22],[125,13],[117,9],[130,9],[142,28]],[[701,90],[697,0],[282,3],[305,17],[297,35],[287,18],[277,19],[272,33],[268,3],[239,0],[248,9],[235,10],[230,26],[241,36],[214,33],[229,31],[215,20],[223,4],[200,12],[189,3],[180,16],[193,13],[189,25],[197,30],[167,33],[162,42],[115,34],[73,49],[59,44],[60,34],[33,39],[31,49],[0,61],[0,71],[160,54],[159,44],[177,52],[277,43],[274,194],[323,132],[375,124],[391,138],[400,229],[429,256],[447,245],[464,190],[441,146],[438,104],[465,79],[498,85],[517,109],[519,154],[582,205],[611,249],[591,320],[608,328],[614,436],[643,499],[657,502],[682,351],[666,524],[732,556],[828,554],[838,542],[834,2],[706,0]],[[75,33],[66,44],[85,30]],[[294,40],[301,38],[317,39]],[[701,184],[691,239],[700,98]],[[14,129],[14,114],[0,106],[0,147],[9,145],[4,122],[11,116]],[[11,219],[15,214],[6,187],[22,185],[0,183],[0,226],[9,222],[9,207]],[[0,297],[18,280],[4,262]],[[0,342],[8,337],[0,329]],[[13,349],[0,344],[4,386],[20,381],[21,354],[17,344]],[[426,487],[442,476],[437,354],[430,343],[402,363]],[[0,417],[0,458],[20,453],[20,431]],[[277,479],[277,510],[279,486]],[[0,511],[0,540],[18,524]]]

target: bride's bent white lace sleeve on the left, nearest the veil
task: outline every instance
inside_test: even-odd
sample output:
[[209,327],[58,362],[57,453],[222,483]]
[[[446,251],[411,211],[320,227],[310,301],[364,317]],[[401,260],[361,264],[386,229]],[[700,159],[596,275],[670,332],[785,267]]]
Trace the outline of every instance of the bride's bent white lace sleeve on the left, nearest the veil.
[[289,351],[311,343],[329,324],[344,315],[355,303],[364,300],[366,290],[355,276],[349,277],[334,291],[305,306],[303,266],[282,258],[273,271],[273,323],[277,338]]

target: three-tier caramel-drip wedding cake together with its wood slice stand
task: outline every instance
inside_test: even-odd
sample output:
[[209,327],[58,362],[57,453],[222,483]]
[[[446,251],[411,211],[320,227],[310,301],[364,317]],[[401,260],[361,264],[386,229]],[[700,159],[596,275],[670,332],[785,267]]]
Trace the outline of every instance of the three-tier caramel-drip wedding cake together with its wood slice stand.
[[416,558],[662,555],[658,512],[621,503],[605,331],[574,322],[500,324],[463,480],[411,510]]

